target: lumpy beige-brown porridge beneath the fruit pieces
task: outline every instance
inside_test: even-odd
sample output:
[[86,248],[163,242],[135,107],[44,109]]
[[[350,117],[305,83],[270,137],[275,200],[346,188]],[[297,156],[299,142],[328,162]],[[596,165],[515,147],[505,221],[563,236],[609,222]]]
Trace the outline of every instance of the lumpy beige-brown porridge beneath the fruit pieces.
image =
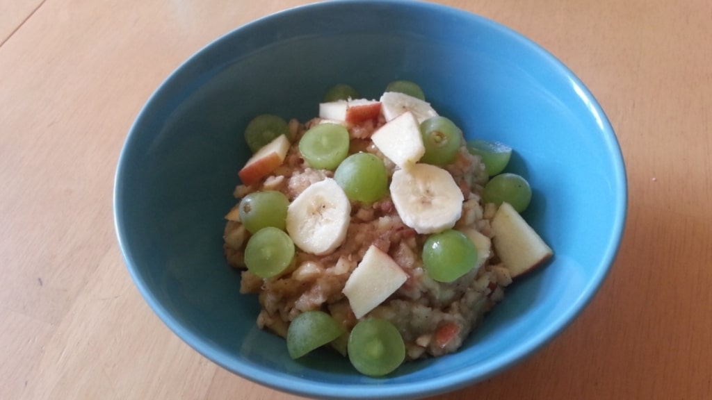
[[[333,172],[310,169],[297,146],[305,130],[320,122],[319,118],[303,125],[290,121],[293,145],[284,164],[258,184],[237,186],[236,198],[253,191],[276,190],[292,201],[311,184],[333,177]],[[350,126],[350,153],[370,152],[384,159],[390,176],[396,166],[369,139],[383,124],[380,118]],[[481,191],[488,177],[480,159],[463,145],[455,161],[445,169],[466,199],[455,228],[472,228],[491,238],[489,219],[496,209],[491,206],[483,209],[481,204]],[[351,209],[347,237],[341,246],[324,256],[297,249],[293,265],[268,279],[258,278],[246,270],[243,254],[250,234],[241,226],[234,211],[228,214],[224,252],[230,265],[242,270],[241,293],[258,295],[262,307],[258,326],[286,336],[289,322],[300,312],[324,310],[350,330],[357,320],[342,289],[364,253],[374,245],[393,258],[407,274],[407,280],[365,317],[381,317],[392,322],[404,339],[407,359],[438,357],[456,351],[483,315],[501,300],[503,288],[512,281],[506,267],[491,251],[481,268],[454,283],[436,282],[429,278],[422,265],[421,252],[427,235],[416,233],[401,221],[390,197],[374,204],[352,201]]]

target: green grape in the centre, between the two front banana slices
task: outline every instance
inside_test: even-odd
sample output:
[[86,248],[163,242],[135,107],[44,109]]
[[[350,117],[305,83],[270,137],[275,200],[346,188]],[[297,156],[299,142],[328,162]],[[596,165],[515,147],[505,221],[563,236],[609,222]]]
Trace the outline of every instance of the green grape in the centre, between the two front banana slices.
[[383,160],[370,153],[356,153],[341,162],[334,180],[351,201],[372,203],[388,194],[388,172]]

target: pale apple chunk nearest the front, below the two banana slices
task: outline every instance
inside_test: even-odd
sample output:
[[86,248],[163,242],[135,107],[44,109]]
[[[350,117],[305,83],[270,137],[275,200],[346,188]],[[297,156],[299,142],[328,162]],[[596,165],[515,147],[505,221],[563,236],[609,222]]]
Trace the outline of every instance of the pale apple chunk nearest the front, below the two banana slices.
[[398,263],[371,245],[346,281],[342,292],[357,318],[373,310],[408,279]]

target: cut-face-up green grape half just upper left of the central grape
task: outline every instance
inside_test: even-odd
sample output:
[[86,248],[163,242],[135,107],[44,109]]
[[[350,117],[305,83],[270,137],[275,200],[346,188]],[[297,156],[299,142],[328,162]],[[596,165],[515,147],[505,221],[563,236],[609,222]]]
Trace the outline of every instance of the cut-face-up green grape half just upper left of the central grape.
[[349,142],[343,125],[320,124],[304,133],[299,151],[310,167],[333,171],[349,154]]

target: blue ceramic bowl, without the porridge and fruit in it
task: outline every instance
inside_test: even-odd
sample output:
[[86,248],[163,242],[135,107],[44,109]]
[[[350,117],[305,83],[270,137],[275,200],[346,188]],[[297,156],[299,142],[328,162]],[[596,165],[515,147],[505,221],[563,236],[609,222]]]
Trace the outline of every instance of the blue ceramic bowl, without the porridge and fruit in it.
[[[335,83],[377,98],[419,83],[468,138],[510,144],[510,170],[534,188],[525,218],[555,258],[518,280],[461,351],[357,374],[328,351],[298,362],[255,325],[223,258],[224,215],[248,157],[241,137],[263,112],[308,120]],[[260,384],[315,398],[405,399],[473,384],[559,334],[602,284],[624,228],[626,177],[614,132],[556,58],[479,16],[415,1],[333,1],[268,16],[210,43],[138,115],[115,182],[115,222],[146,301],[187,344]]]

